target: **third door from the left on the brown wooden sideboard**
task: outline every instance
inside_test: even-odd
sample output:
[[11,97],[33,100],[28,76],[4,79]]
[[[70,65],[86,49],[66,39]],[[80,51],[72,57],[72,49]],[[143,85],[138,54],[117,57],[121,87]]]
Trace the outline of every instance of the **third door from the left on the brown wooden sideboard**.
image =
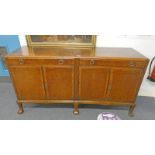
[[99,66],[79,68],[79,98],[104,99],[109,80],[109,69]]

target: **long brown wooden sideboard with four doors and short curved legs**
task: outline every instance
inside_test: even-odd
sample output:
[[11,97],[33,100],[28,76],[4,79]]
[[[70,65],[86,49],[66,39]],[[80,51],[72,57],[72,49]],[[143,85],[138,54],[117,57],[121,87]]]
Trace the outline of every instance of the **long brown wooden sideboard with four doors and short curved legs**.
[[135,100],[149,59],[131,48],[22,47],[5,57],[23,103],[129,106]]

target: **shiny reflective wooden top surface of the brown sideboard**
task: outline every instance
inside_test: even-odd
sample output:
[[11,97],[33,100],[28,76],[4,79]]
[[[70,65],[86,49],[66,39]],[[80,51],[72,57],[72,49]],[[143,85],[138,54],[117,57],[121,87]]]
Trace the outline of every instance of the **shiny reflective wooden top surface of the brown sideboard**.
[[95,47],[95,48],[67,48],[67,47],[27,47],[23,46],[6,57],[26,58],[135,58],[147,59],[132,48]]

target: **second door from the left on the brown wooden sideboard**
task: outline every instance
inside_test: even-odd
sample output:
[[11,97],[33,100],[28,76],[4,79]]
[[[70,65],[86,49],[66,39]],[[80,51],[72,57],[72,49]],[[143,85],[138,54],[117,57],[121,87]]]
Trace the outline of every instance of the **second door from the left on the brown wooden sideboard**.
[[46,94],[52,100],[74,98],[74,67],[44,66]]

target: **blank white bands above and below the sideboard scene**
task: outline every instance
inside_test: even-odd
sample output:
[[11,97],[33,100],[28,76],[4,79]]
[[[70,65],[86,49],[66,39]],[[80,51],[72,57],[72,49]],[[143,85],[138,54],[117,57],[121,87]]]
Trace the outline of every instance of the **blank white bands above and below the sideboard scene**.
[[[0,4],[1,34],[155,35],[153,0]],[[3,155],[154,154],[154,121],[1,121],[0,131]]]

